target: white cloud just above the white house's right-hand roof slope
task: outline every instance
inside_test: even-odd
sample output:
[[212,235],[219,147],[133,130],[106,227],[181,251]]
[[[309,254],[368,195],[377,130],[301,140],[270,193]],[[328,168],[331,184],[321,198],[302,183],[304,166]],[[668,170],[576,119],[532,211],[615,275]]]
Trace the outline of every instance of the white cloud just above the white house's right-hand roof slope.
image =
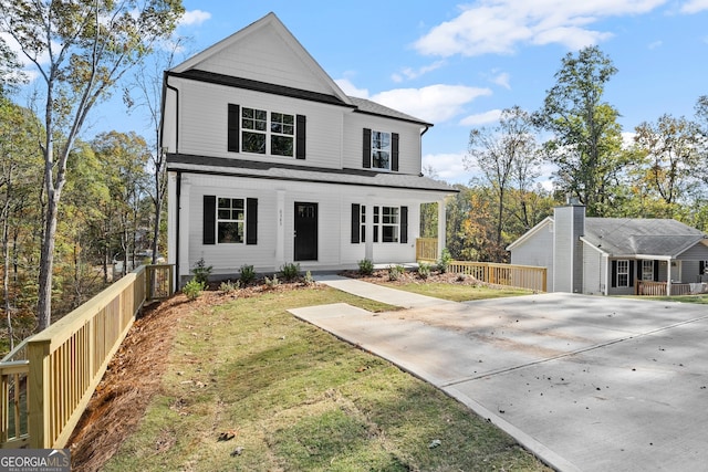
[[371,99],[435,124],[464,113],[465,105],[483,95],[491,95],[491,91],[438,84],[423,88],[396,88],[373,95]]

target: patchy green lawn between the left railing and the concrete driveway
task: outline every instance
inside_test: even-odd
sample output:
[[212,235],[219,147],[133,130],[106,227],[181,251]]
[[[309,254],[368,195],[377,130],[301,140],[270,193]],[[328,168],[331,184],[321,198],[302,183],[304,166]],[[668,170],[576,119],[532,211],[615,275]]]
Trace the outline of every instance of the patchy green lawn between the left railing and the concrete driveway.
[[337,302],[386,308],[306,289],[181,317],[160,392],[104,470],[550,470],[430,385],[285,312]]

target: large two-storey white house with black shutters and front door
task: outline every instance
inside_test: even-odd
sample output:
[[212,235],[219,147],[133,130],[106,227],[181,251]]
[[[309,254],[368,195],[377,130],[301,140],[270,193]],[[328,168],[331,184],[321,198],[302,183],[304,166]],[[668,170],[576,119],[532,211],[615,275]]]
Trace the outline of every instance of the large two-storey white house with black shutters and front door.
[[[329,40],[324,39],[323,40]],[[184,284],[204,259],[215,279],[415,262],[429,123],[346,96],[273,13],[165,73],[168,262]]]

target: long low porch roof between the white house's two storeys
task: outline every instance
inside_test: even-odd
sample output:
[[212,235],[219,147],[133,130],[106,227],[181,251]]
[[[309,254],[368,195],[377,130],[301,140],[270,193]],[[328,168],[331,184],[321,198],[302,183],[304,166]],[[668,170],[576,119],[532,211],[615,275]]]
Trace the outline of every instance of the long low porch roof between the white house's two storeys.
[[448,193],[457,193],[459,191],[447,182],[424,177],[423,175],[376,172],[362,169],[325,169],[292,164],[262,162],[186,154],[167,154],[167,170],[277,180],[429,190]]

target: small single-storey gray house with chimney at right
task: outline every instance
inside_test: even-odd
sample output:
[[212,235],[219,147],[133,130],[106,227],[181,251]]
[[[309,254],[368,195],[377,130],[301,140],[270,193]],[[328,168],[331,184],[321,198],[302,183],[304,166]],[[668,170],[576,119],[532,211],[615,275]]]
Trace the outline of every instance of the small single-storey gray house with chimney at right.
[[570,204],[507,249],[512,264],[548,268],[549,292],[634,294],[647,282],[670,294],[708,282],[706,238],[676,220],[585,218],[585,207]]

